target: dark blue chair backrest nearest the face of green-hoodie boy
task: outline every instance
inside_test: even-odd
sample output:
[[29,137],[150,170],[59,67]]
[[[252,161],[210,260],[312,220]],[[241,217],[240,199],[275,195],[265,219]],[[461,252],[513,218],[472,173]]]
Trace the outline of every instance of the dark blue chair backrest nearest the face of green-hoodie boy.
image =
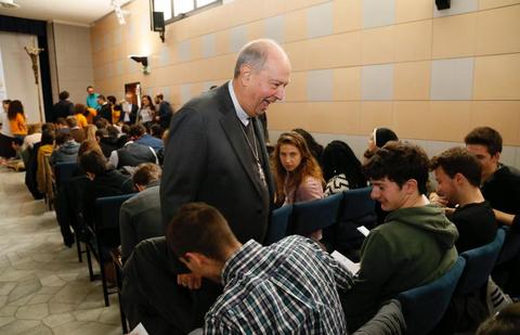
[[[376,221],[376,202],[370,198],[372,186],[344,191],[344,202],[341,208],[341,222]],[[365,222],[360,226],[365,224]]]

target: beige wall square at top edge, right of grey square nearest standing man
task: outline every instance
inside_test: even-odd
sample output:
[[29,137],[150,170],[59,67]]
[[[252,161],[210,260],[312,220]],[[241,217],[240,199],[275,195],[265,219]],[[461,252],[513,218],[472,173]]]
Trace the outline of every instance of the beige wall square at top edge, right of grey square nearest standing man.
[[334,0],[334,33],[359,30],[362,28],[361,0]]

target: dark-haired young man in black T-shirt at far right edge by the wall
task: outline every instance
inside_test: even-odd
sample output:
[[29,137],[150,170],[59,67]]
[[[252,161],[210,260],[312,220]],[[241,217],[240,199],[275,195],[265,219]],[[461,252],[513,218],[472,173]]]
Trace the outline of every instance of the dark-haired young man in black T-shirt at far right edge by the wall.
[[520,171],[500,163],[502,136],[495,129],[474,128],[464,141],[468,151],[482,164],[481,191],[493,207],[496,220],[512,226],[503,249],[508,255],[517,256],[495,268],[493,279],[507,293],[520,295]]

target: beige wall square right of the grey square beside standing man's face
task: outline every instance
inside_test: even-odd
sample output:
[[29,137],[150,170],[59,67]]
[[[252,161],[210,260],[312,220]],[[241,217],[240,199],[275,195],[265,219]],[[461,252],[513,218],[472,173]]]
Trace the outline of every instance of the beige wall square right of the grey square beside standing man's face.
[[334,100],[361,100],[361,67],[335,68],[333,80]]

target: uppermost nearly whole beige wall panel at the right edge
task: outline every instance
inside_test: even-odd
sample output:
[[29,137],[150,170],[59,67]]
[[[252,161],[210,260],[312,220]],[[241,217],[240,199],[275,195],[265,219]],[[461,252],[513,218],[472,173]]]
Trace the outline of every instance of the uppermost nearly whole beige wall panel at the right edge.
[[479,13],[477,54],[520,51],[520,5]]

